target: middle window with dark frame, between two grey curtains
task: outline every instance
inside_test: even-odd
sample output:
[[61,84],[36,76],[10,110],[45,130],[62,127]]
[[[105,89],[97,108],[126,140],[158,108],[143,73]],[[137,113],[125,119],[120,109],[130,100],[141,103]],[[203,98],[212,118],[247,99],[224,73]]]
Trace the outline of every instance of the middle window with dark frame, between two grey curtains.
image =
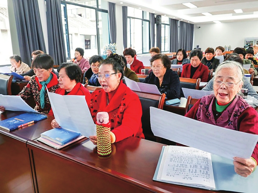
[[127,48],[133,48],[136,54],[148,53],[150,50],[149,12],[132,7],[128,7],[127,11]]

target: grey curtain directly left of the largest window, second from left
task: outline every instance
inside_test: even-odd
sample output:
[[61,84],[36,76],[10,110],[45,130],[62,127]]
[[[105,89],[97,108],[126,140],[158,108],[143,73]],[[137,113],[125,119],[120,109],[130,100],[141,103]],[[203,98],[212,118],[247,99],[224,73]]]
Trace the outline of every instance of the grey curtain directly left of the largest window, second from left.
[[49,55],[54,59],[54,65],[66,62],[64,32],[60,0],[45,0],[47,14],[47,34]]

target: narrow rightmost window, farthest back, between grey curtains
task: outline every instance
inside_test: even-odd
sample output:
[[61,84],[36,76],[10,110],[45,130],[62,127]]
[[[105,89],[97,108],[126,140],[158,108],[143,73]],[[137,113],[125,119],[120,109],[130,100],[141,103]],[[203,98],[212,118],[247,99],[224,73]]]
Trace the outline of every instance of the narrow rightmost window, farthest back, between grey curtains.
[[166,16],[161,16],[161,51],[169,52],[169,18]]

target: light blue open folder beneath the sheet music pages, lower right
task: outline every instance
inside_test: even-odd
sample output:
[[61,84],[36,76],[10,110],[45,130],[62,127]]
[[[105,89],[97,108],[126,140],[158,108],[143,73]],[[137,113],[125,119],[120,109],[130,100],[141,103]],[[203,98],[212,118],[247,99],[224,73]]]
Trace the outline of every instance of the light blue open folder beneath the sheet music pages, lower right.
[[[158,164],[157,164],[157,168],[156,168],[153,180],[172,183],[172,184],[178,184],[183,186],[190,186],[195,188],[210,189],[200,185],[196,186],[196,185],[189,185],[189,184],[184,184],[179,182],[172,182],[172,181],[157,179],[159,168],[164,163],[162,160],[164,149],[165,149],[165,146],[162,147],[162,151],[158,160]],[[226,190],[226,191],[246,192],[246,193],[257,192],[258,190],[257,169],[250,176],[242,177],[237,173],[235,173],[233,160],[211,154],[211,162],[212,162],[211,169],[213,169],[214,181],[215,181],[215,188],[213,190]],[[188,169],[186,171],[188,171]]]

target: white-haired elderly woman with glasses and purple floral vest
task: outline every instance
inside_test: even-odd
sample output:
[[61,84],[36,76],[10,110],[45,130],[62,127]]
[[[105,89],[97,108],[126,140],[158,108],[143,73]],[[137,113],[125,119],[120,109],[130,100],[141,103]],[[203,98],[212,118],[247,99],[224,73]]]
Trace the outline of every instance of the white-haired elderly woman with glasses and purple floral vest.
[[[218,66],[214,78],[214,94],[198,100],[186,117],[224,128],[258,134],[257,111],[237,93],[243,85],[243,68],[235,61]],[[249,159],[234,158],[235,172],[250,175],[258,161],[258,144]]]

